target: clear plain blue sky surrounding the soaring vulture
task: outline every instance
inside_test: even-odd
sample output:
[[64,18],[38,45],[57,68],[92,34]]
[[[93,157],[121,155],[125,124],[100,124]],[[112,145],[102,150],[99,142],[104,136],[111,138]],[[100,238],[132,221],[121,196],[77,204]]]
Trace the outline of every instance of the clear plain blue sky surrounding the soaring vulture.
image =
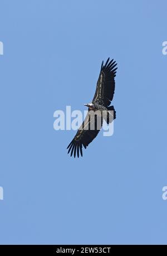
[[[167,2],[0,1],[1,244],[167,241]],[[112,137],[79,159],[53,112],[84,110],[119,66]]]

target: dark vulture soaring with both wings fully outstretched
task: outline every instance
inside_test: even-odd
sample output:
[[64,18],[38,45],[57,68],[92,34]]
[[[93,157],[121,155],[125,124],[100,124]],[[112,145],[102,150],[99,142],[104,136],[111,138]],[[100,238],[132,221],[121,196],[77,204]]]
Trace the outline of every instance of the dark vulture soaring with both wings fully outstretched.
[[[116,61],[113,59],[110,61],[110,58],[107,59],[105,65],[102,61],[94,99],[91,103],[84,104],[89,108],[88,113],[76,136],[67,147],[71,156],[73,154],[76,157],[76,153],[77,157],[80,154],[82,156],[82,146],[86,148],[94,140],[102,127],[103,121],[105,120],[109,124],[116,118],[114,106],[110,106],[115,91],[116,65]],[[94,118],[91,118],[93,113],[95,113]]]

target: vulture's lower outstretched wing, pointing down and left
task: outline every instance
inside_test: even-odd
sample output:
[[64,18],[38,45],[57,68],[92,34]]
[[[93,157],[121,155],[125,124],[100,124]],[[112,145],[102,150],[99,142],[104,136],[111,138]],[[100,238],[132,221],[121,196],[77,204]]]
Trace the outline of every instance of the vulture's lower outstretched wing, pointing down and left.
[[[99,120],[99,122],[97,122]],[[72,139],[70,144],[68,145],[68,153],[71,151],[74,157],[82,156],[82,145],[86,148],[93,140],[96,138],[102,127],[102,117],[98,117],[94,115],[94,118],[90,117],[90,112],[87,113],[84,122],[81,127],[78,129],[76,136]],[[98,123],[98,125],[97,125]],[[94,128],[94,129],[92,129]]]

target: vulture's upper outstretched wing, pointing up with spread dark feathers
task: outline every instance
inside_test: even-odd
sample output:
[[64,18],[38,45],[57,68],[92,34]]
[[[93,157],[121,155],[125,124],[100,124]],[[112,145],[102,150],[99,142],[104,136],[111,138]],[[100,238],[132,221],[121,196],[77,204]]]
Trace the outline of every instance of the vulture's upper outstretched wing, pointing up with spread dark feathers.
[[92,102],[98,102],[105,107],[109,107],[111,100],[114,96],[115,90],[115,76],[116,76],[116,63],[115,61],[107,59],[106,64],[104,61],[101,64],[99,79],[97,81],[96,92]]

